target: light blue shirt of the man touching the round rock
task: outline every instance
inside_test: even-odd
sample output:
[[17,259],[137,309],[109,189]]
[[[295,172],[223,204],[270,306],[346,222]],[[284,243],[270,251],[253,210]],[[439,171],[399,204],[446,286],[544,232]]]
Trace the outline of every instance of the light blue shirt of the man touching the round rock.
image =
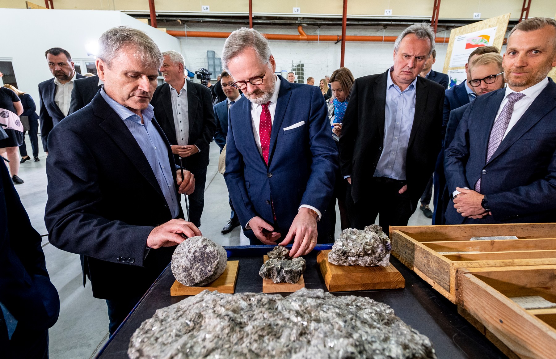
[[[155,117],[155,112],[151,104],[147,108],[141,110],[143,115],[143,123],[141,123],[141,117],[133,113],[127,107],[121,105],[114,101],[110,96],[104,91],[104,87],[101,89],[101,96],[105,99],[110,107],[120,118],[123,123],[126,124],[127,128],[130,130],[131,134],[137,141],[139,147],[145,154],[148,164],[151,165],[152,172],[155,173],[156,181],[158,186],[166,198],[166,203],[172,217],[176,218],[178,213],[180,213],[179,202],[176,196],[176,187],[174,182],[175,170],[170,167],[170,159],[168,159],[168,147],[166,143],[158,133],[156,127],[152,124],[152,118]],[[140,195],[140,193],[137,193]]]

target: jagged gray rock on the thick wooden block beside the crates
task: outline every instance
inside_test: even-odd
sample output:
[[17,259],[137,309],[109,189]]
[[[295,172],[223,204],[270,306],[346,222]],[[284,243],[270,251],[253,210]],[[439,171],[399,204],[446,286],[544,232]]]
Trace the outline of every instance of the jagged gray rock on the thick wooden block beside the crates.
[[334,242],[328,261],[338,266],[389,266],[392,245],[378,225],[363,231],[347,228]]

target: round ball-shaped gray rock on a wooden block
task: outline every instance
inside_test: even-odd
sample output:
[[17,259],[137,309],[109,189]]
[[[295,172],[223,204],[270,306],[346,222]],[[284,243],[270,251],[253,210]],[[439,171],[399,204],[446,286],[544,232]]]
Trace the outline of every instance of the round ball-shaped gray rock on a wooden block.
[[172,273],[184,286],[202,287],[224,273],[227,261],[224,247],[209,238],[191,237],[174,251]]

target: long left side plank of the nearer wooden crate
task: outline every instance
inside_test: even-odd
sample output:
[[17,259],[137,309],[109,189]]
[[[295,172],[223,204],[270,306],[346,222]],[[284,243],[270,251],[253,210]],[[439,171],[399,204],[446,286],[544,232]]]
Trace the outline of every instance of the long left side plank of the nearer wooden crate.
[[464,270],[458,273],[460,303],[508,348],[522,358],[554,358],[556,330]]

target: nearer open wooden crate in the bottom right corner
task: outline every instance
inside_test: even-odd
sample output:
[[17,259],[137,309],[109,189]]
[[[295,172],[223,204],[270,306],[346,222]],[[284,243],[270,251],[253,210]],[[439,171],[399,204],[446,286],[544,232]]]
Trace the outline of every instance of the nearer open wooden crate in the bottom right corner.
[[458,301],[463,310],[458,311],[475,318],[490,341],[502,342],[515,355],[552,359],[556,308],[525,310],[512,297],[540,296],[556,302],[554,278],[555,265],[462,268],[458,271]]

